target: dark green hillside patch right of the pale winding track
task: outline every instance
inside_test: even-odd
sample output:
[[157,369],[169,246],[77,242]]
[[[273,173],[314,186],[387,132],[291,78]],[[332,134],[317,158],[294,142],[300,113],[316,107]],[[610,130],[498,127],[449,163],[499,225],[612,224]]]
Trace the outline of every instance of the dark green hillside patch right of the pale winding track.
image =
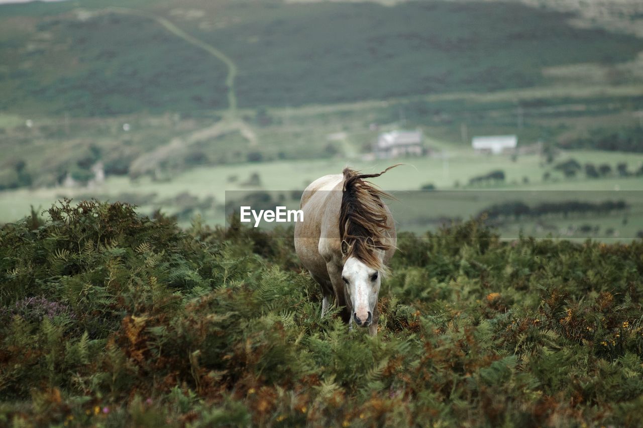
[[[515,3],[256,8],[231,8],[253,16],[247,24],[200,32],[230,40],[242,70],[240,103],[248,106],[532,87],[545,82],[543,67],[614,64],[643,48],[640,39],[577,30],[566,15]],[[239,30],[244,37],[233,37]]]

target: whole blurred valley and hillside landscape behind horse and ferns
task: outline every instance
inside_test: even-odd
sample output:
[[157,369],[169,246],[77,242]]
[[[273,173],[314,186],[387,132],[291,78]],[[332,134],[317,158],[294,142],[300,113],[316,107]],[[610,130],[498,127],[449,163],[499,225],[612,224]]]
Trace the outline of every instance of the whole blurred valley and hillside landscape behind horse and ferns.
[[2,4],[0,58],[0,224],[62,198],[222,224],[404,163],[374,180],[402,229],[643,236],[639,1]]

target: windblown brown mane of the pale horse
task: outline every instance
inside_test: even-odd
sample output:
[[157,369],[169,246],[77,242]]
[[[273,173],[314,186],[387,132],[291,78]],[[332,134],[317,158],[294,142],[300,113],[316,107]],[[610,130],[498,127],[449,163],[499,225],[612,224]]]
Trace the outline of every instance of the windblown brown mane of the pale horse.
[[[399,164],[398,164],[399,165]],[[381,198],[392,198],[379,190],[365,178],[379,177],[395,166],[389,166],[379,174],[359,174],[358,171],[344,168],[344,187],[340,208],[340,239],[349,244],[344,260],[355,256],[378,271],[386,271],[376,249],[386,251],[392,247],[385,236],[392,229],[388,225],[388,211]],[[369,242],[367,242],[370,238]],[[372,241],[372,242],[370,242]]]

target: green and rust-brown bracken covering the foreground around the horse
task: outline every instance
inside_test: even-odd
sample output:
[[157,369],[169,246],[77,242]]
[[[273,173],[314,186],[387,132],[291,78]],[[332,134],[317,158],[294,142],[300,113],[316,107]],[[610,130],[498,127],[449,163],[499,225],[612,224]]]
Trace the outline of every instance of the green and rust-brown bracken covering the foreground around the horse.
[[0,424],[641,425],[641,254],[402,233],[370,337],[291,229],[61,201],[0,229]]

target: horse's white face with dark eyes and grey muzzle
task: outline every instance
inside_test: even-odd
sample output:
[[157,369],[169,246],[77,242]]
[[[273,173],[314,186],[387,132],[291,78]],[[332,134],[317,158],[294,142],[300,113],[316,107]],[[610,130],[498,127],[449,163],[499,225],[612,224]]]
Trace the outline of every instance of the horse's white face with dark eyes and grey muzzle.
[[[342,253],[348,255],[341,271],[341,280],[344,281],[346,299],[352,310],[351,316],[358,326],[368,327],[376,310],[383,269],[371,267],[358,256],[350,254],[350,247],[346,241],[343,241],[341,246]],[[381,263],[384,252],[379,249],[372,251]]]

